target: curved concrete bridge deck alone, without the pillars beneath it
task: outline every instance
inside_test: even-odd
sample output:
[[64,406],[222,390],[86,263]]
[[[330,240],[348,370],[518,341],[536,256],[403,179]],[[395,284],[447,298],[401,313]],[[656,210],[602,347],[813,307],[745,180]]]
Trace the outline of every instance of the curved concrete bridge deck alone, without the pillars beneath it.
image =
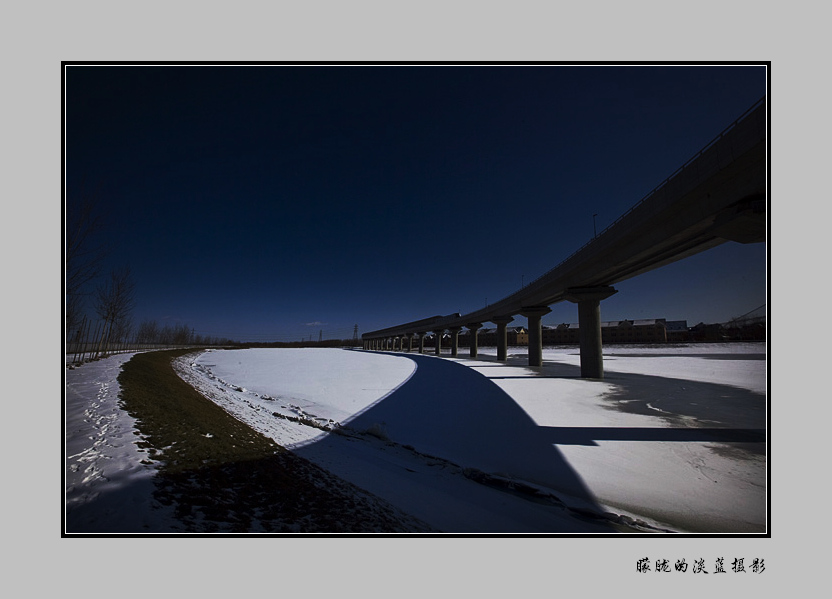
[[569,289],[613,285],[726,241],[765,241],[765,107],[760,100],[595,239],[508,297],[469,314],[433,317],[362,337],[491,322],[564,301]]

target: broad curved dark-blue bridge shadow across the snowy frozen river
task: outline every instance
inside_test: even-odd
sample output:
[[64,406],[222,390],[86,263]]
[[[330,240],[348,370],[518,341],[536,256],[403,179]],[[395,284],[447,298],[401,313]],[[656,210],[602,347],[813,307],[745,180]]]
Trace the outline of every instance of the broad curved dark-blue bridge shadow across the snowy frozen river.
[[[342,423],[344,426],[359,432],[381,430],[397,445],[413,448],[420,454],[518,483],[540,485],[567,505],[579,508],[573,513],[600,515],[604,512],[581,477],[553,445],[551,431],[537,425],[510,395],[487,377],[431,355],[387,355],[411,360],[416,369],[407,381]],[[323,453],[338,450],[337,437],[326,436],[292,451],[300,456],[314,453],[313,461],[320,462]],[[428,496],[426,500],[429,501]],[[602,531],[620,531],[603,520],[593,524]]]

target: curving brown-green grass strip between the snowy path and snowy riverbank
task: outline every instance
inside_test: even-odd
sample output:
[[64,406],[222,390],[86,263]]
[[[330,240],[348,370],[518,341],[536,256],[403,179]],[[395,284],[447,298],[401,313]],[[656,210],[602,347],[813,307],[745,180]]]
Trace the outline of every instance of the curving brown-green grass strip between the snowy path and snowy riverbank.
[[171,365],[192,352],[136,354],[118,377],[139,446],[158,469],[155,497],[181,523],[171,532],[430,532],[203,397]]

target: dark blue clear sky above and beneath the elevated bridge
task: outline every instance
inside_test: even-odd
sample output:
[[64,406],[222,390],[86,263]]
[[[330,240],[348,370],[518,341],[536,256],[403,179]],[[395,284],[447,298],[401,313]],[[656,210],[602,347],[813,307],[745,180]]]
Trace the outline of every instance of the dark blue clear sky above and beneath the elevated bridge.
[[[764,66],[68,66],[134,321],[252,341],[470,312],[543,274],[766,94]],[[766,302],[766,246],[616,285],[602,320]],[[552,306],[544,324],[577,322]],[[522,317],[515,322],[525,324]]]

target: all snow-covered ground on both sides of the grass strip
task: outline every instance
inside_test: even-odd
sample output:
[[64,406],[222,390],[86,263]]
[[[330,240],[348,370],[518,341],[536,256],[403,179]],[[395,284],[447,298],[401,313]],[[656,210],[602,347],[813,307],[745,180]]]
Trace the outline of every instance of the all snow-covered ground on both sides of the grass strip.
[[[765,532],[765,344],[606,347],[603,381],[580,378],[577,348],[544,350],[539,368],[522,348],[504,364],[466,353],[223,350],[177,367],[256,430],[448,533]],[[117,406],[125,359],[67,371],[67,509],[95,530],[175,530]],[[129,478],[146,484],[119,496]]]

